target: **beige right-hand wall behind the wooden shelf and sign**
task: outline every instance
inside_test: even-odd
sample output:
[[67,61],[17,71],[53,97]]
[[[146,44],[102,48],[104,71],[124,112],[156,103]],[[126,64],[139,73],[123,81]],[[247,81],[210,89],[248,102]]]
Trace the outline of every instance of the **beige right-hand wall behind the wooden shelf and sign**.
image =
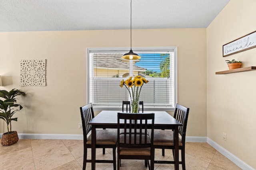
[[[207,136],[256,168],[256,71],[216,75],[225,60],[256,66],[256,48],[222,57],[222,45],[256,31],[256,1],[230,0],[207,30]],[[256,43],[256,42],[254,42]],[[222,140],[222,133],[227,140]]]

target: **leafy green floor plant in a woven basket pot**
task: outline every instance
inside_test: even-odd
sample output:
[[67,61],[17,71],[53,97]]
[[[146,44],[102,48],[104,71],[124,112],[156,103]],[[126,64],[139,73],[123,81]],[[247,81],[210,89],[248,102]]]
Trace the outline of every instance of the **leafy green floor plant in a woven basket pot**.
[[17,131],[12,131],[12,121],[17,121],[17,117],[13,118],[12,116],[17,111],[20,111],[23,107],[20,104],[16,103],[16,96],[26,94],[20,90],[12,89],[10,92],[6,90],[0,90],[0,119],[3,119],[7,124],[7,132],[2,135],[1,144],[4,146],[9,146],[16,143],[18,138]]

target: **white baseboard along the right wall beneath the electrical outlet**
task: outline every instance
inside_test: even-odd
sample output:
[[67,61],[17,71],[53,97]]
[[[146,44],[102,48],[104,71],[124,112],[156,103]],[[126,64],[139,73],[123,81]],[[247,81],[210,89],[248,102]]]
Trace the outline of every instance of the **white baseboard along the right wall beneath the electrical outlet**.
[[214,149],[218,150],[221,154],[223,154],[226,158],[234,162],[237,166],[239,166],[242,170],[255,170],[250,165],[246,164],[244,161],[236,157],[234,154],[230,153],[228,150],[224,149],[218,143],[212,141],[212,139],[207,137],[207,143],[214,147]]

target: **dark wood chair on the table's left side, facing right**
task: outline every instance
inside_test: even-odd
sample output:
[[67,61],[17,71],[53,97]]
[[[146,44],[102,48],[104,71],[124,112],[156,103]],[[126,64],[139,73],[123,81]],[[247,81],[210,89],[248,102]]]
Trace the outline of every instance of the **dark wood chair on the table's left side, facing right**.
[[[82,117],[82,126],[84,134],[84,163],[83,170],[86,168],[86,162],[92,162],[87,159],[87,149],[92,148],[92,137],[88,133],[92,130],[88,122],[94,118],[94,111],[92,103],[80,107]],[[112,148],[113,160],[96,160],[96,163],[113,163],[114,170],[116,170],[116,144],[117,144],[117,130],[116,129],[101,129],[96,130],[96,148]]]

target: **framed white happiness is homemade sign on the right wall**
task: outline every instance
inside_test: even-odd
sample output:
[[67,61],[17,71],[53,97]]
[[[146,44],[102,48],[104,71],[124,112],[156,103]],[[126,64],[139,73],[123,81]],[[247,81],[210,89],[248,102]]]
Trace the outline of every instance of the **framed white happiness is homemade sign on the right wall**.
[[256,47],[256,31],[244,35],[230,43],[223,45],[222,54],[223,57],[240,53]]

